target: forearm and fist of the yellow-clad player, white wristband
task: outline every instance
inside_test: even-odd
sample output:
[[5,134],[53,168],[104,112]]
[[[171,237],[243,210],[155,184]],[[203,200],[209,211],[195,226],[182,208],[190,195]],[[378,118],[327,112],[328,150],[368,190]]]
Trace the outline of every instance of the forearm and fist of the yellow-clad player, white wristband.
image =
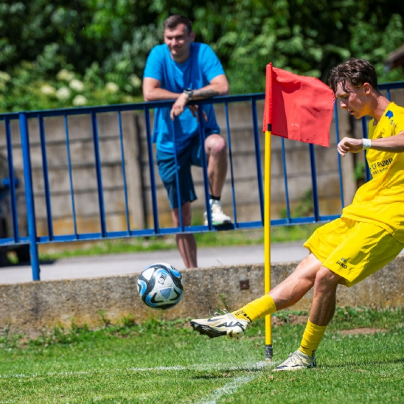
[[[344,137],[337,145],[338,153],[344,157],[348,151],[351,153],[358,153],[364,148],[364,141],[368,139],[354,139],[351,137]],[[371,139],[370,147],[373,150],[391,151],[392,153],[402,153],[404,151],[404,131],[389,137],[381,137],[378,139]],[[366,145],[366,144],[365,144]]]

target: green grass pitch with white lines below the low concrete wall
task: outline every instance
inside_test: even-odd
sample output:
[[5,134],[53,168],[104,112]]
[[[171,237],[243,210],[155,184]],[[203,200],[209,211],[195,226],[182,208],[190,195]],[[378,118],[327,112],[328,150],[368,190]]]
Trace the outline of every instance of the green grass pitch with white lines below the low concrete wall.
[[[289,312],[293,314],[293,312]],[[274,361],[300,342],[304,325],[276,315]],[[301,314],[301,313],[298,313]],[[0,403],[363,403],[404,401],[404,312],[337,309],[318,367],[262,367],[264,323],[235,341],[208,339],[188,322],[150,319],[99,330],[73,326],[35,340],[0,337]],[[357,327],[370,334],[343,334]]]

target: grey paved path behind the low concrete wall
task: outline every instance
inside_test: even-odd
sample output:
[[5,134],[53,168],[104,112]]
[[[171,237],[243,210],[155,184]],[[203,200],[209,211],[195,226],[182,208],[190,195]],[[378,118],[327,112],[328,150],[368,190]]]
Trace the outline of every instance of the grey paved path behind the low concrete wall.
[[[301,244],[301,242],[293,242],[271,245],[271,262],[300,261],[307,255],[307,249]],[[53,263],[43,263],[40,265],[40,278],[41,280],[54,280],[126,275],[139,273],[146,266],[156,262],[167,262],[178,270],[184,269],[178,251],[167,250],[66,258]],[[198,266],[200,268],[262,264],[263,262],[263,245],[198,248]],[[30,266],[15,265],[0,268],[0,284],[29,282],[31,280],[32,269]]]

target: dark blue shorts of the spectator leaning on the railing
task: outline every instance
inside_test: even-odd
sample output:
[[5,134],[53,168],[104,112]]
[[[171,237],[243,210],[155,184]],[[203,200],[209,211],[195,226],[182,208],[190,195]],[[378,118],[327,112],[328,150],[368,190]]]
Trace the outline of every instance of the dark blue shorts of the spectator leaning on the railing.
[[[160,177],[167,190],[171,209],[178,208],[175,158],[172,154],[157,150],[156,161]],[[189,145],[177,156],[177,164],[182,206],[186,202],[196,199],[191,166],[203,166],[199,135],[194,136]]]

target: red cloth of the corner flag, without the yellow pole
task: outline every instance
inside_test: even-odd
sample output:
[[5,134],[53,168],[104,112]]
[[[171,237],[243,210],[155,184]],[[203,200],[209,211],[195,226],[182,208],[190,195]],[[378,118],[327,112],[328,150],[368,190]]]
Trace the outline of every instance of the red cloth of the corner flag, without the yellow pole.
[[264,132],[330,147],[334,103],[334,92],[319,79],[267,65]]

